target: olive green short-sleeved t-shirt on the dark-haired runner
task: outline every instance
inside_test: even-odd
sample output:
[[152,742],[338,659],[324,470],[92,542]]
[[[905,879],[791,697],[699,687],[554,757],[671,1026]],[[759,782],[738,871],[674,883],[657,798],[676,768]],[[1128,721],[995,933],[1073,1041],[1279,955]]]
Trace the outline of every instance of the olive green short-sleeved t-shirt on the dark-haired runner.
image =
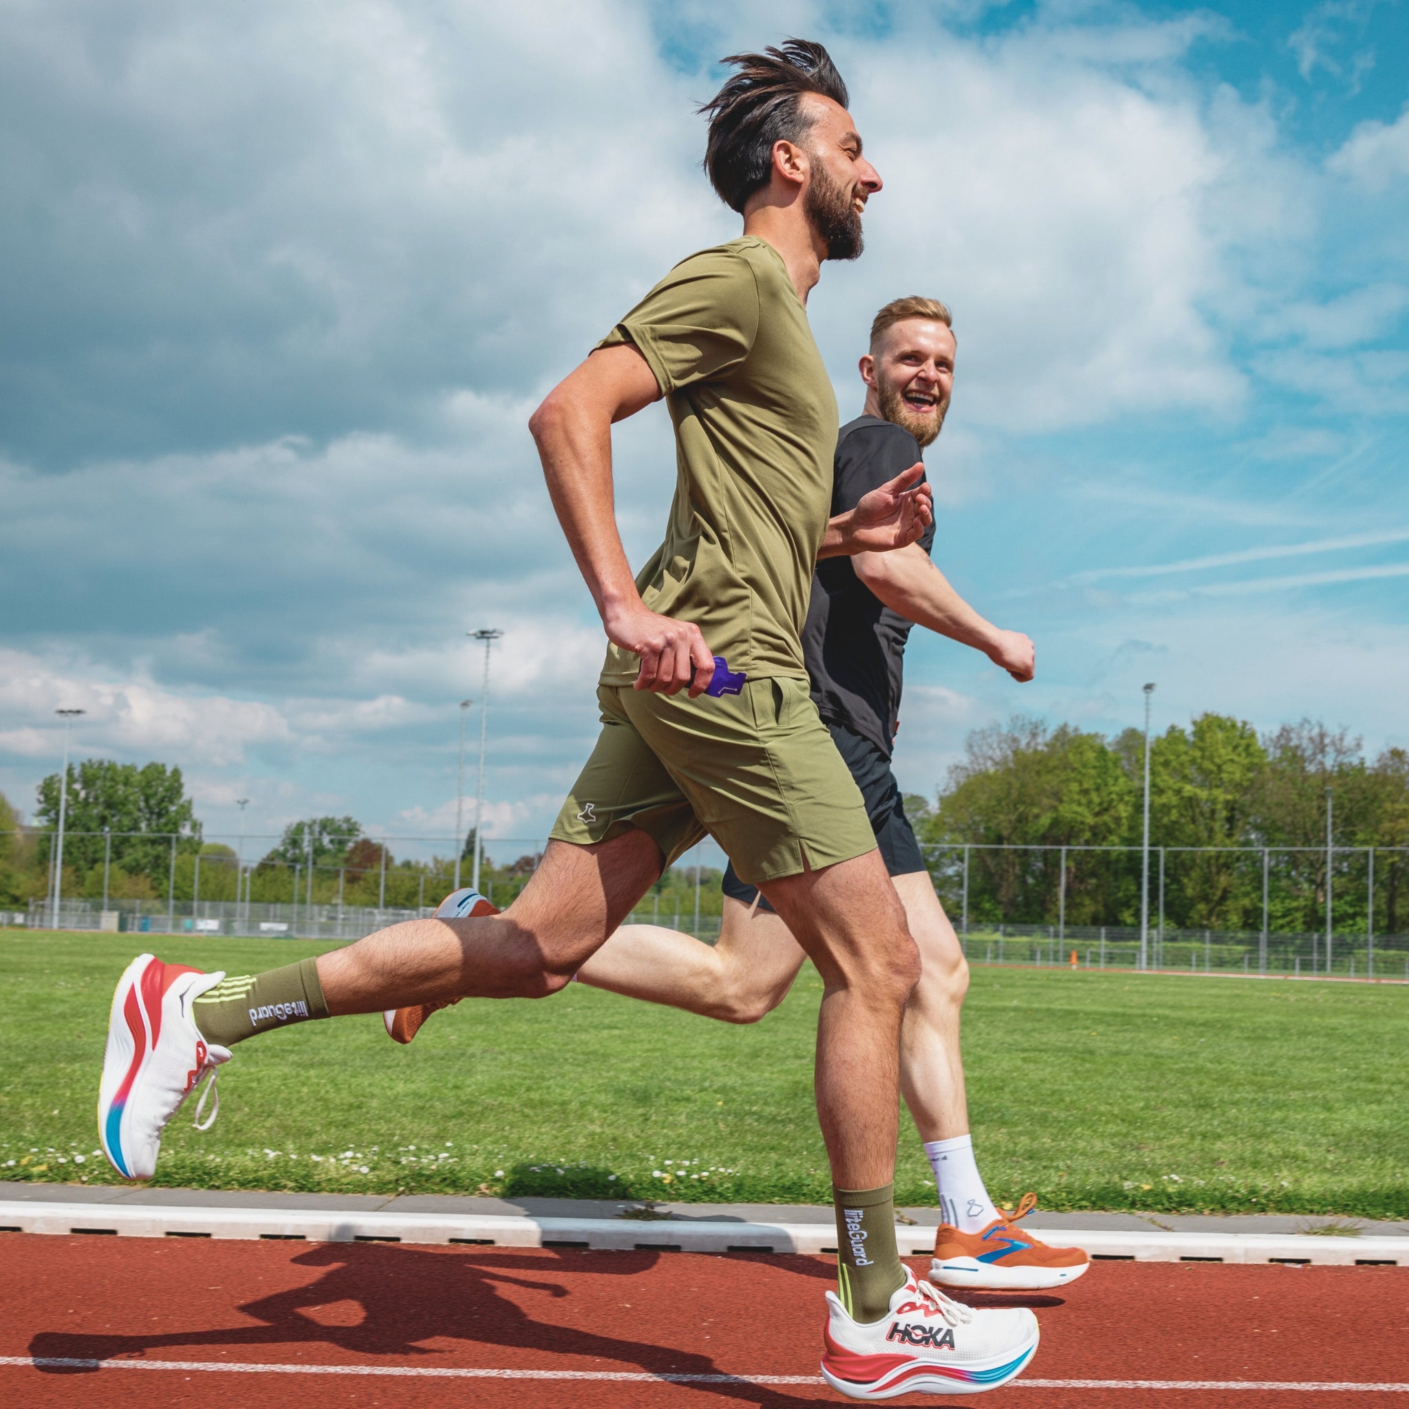
[[[681,261],[599,347],[633,344],[675,426],[665,541],[635,579],[750,678],[806,678],[802,628],[831,511],[837,399],[782,255],[752,235]],[[603,685],[640,658],[607,648]]]

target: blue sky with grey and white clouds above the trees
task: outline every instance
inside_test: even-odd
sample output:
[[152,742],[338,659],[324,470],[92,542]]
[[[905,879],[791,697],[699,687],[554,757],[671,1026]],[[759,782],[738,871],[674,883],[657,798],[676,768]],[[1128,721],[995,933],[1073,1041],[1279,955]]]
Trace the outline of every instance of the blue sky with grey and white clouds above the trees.
[[[1409,744],[1409,6],[0,0],[0,790],[179,764],[209,833],[541,836],[603,638],[524,428],[682,255],[716,61],[823,39],[885,190],[812,320],[954,309],[936,555],[1038,679],[913,638],[898,771],[976,726],[1303,714]],[[634,562],[664,409],[617,435]],[[472,721],[473,735],[473,721]],[[445,850],[442,847],[441,850]]]

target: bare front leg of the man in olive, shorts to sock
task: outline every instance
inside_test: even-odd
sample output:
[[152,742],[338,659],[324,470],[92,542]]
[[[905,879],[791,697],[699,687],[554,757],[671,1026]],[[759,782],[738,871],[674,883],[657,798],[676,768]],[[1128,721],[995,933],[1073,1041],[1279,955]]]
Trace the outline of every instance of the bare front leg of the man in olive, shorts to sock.
[[762,886],[821,975],[817,1116],[841,1189],[895,1178],[900,1020],[920,955],[879,851]]

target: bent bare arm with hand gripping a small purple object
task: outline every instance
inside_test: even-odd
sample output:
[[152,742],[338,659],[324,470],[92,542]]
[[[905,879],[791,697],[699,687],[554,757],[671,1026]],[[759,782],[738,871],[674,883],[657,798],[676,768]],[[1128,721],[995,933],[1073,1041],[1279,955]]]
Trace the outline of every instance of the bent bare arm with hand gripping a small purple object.
[[602,348],[571,372],[533,413],[554,511],[609,640],[641,658],[638,690],[699,695],[714,672],[700,628],[648,612],[621,547],[612,493],[612,427],[661,395],[633,347]]

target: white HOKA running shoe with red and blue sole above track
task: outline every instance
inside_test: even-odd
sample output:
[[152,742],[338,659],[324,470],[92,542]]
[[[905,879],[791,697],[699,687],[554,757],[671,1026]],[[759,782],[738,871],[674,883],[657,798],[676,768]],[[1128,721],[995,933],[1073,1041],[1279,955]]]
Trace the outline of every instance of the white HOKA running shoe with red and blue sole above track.
[[976,1395],[1006,1385],[1033,1358],[1037,1317],[1026,1306],[974,1310],[906,1272],[889,1313],[869,1326],[827,1292],[821,1372],[833,1389],[852,1399]]

